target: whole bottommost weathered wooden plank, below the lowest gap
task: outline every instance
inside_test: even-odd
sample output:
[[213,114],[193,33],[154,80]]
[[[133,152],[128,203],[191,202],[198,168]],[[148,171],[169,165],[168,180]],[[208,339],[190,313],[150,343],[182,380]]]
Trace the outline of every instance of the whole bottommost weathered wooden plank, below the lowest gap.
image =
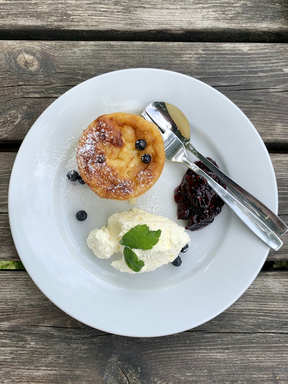
[[[70,318],[26,272],[0,272],[5,383],[268,383],[288,380],[288,273],[260,273],[228,310],[161,338],[106,334]],[[279,377],[277,379],[277,377]]]

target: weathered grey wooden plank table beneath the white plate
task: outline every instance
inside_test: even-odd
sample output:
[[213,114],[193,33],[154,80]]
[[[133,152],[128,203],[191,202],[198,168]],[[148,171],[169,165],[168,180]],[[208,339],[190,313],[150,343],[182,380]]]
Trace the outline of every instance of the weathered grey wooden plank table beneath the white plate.
[[[74,85],[122,68],[179,71],[235,102],[270,152],[288,222],[286,0],[0,0],[0,9],[0,260],[19,260],[7,192],[28,129]],[[24,270],[1,270],[0,382],[287,383],[287,240],[228,310],[161,338],[89,328]]]

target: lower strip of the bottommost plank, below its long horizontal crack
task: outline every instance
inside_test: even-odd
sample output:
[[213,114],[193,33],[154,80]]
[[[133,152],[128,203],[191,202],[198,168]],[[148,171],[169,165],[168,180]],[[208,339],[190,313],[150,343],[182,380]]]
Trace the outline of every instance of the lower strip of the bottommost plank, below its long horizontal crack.
[[1,332],[5,383],[286,383],[286,334],[181,333],[161,338]]

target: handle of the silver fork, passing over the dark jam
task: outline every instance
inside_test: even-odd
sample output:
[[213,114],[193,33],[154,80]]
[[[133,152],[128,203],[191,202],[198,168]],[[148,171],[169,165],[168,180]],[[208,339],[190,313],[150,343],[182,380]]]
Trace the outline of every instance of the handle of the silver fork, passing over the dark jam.
[[207,175],[202,169],[197,167],[192,161],[190,161],[187,156],[181,156],[177,159],[177,162],[180,162],[187,166],[188,168],[194,170],[197,174],[205,177],[210,187],[214,189],[219,197],[232,209],[232,211],[247,225],[252,232],[255,233],[264,243],[266,243],[270,248],[277,251],[283,242],[280,238],[275,235],[275,233],[267,227],[267,225],[256,215],[251,212],[250,209],[245,207],[240,201],[235,199],[226,189],[221,187],[215,180]]

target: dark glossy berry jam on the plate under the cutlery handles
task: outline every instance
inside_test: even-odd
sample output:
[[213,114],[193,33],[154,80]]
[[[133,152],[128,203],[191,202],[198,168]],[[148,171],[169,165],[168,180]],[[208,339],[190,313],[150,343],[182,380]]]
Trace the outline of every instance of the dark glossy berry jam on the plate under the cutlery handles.
[[[210,157],[207,159],[218,167]],[[195,164],[226,189],[226,185],[202,161],[195,161]],[[205,177],[196,174],[191,169],[187,170],[174,193],[174,199],[178,205],[178,218],[188,220],[186,229],[191,231],[201,229],[212,223],[224,205],[223,200],[208,185]]]

